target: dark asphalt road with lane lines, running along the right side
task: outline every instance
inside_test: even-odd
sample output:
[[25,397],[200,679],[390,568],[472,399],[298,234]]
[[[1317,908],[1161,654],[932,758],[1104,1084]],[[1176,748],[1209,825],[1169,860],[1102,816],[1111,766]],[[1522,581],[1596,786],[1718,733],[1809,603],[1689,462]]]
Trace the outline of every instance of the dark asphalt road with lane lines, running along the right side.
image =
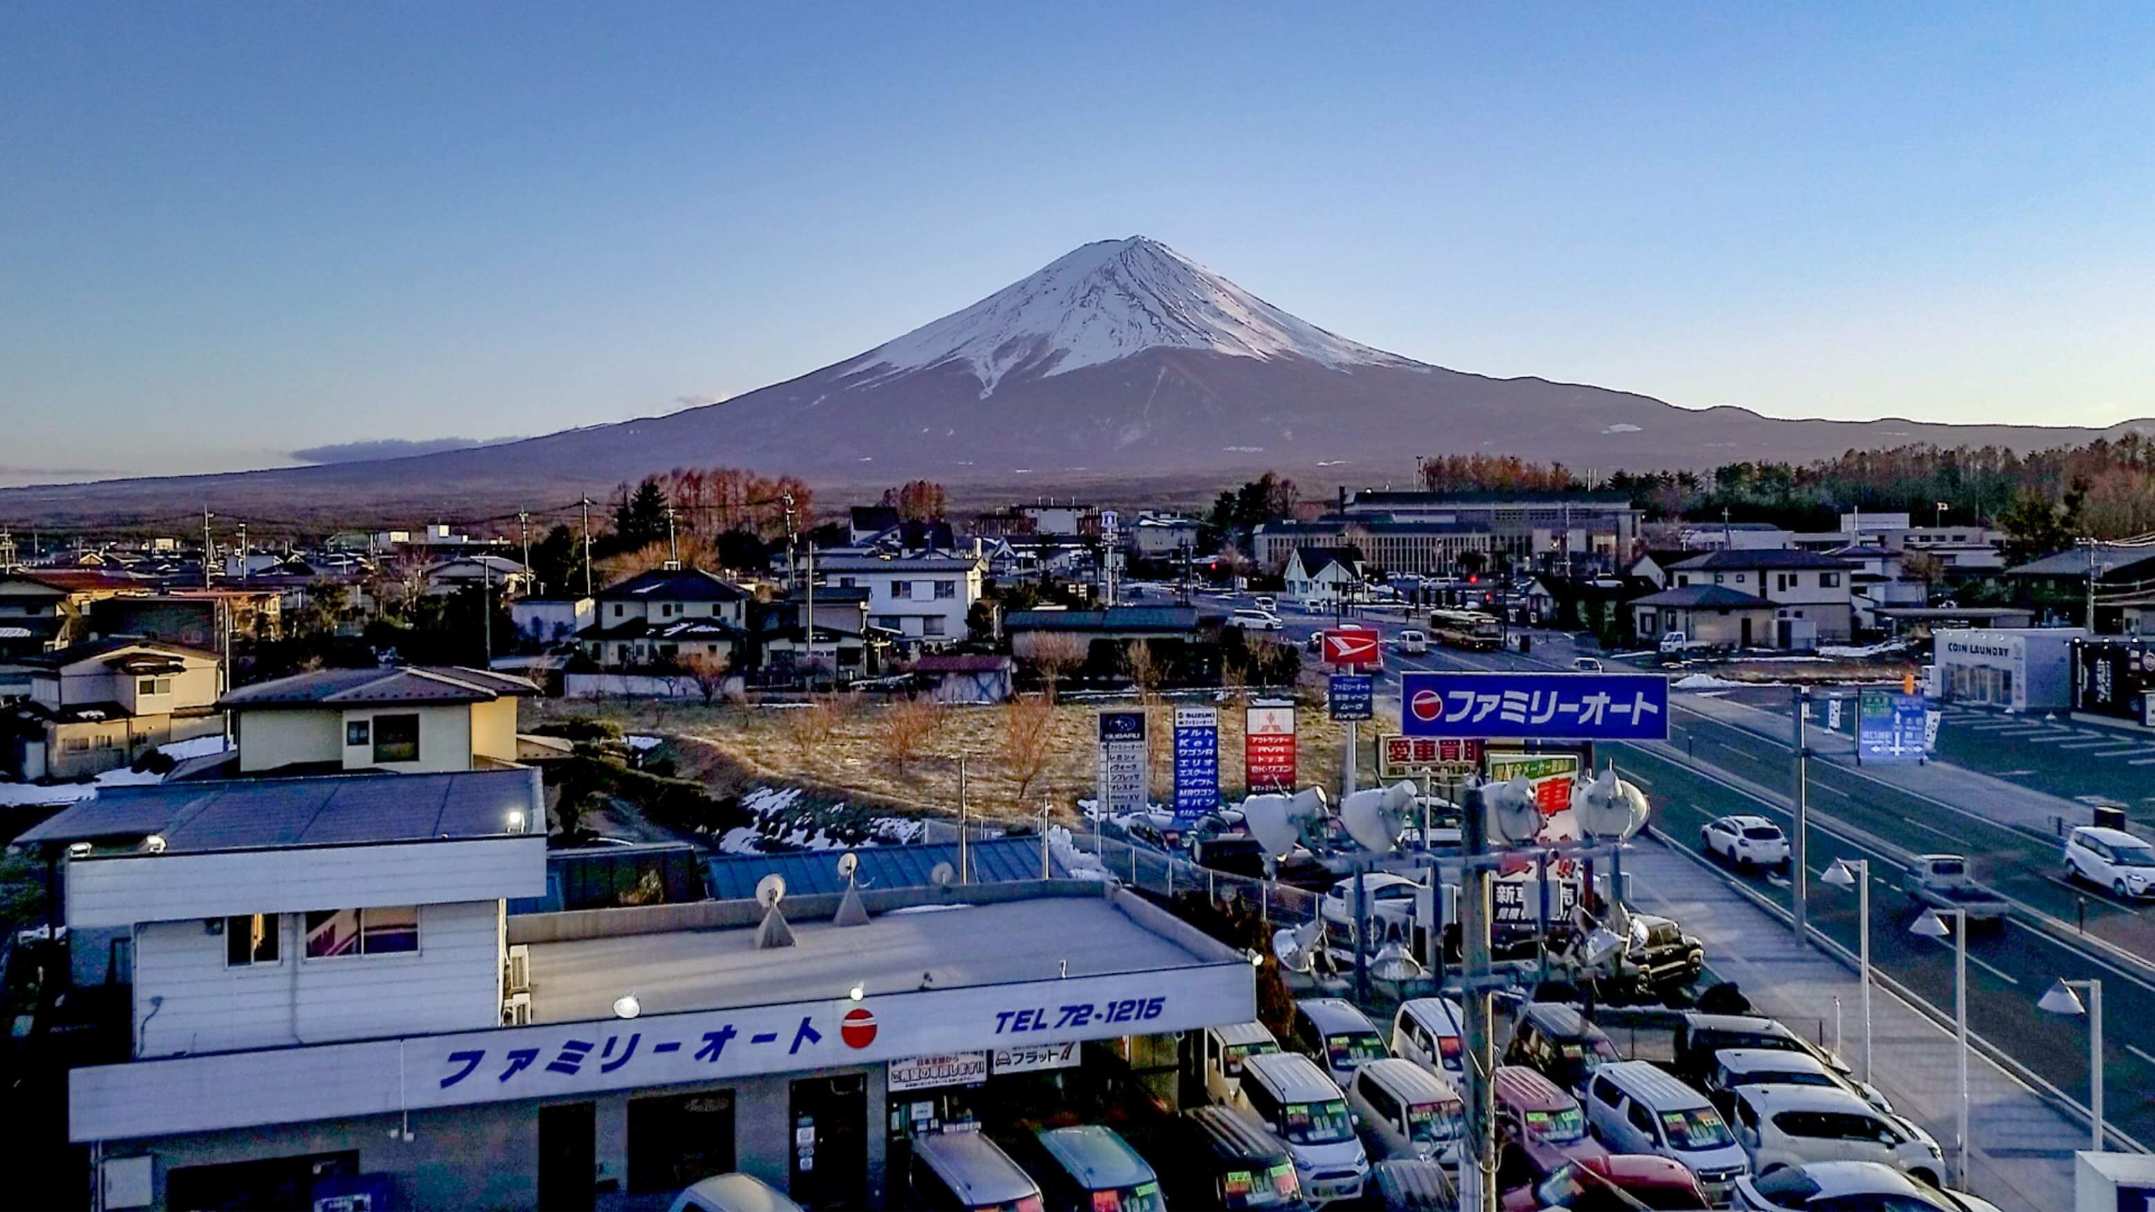
[[[1222,602],[1231,604],[1231,602]],[[1233,604],[1246,604],[1233,602]],[[1330,625],[1327,617],[1284,615],[1284,638],[1306,638]],[[1390,636],[1403,625],[1399,615],[1358,619]],[[1386,653],[1379,718],[1396,716],[1403,669],[1569,669],[1575,649],[1569,638],[1534,634],[1532,656],[1465,653],[1431,649],[1429,656]],[[1655,809],[1655,824],[1679,843],[1696,843],[1700,826],[1718,815],[1758,813],[1791,828],[1791,813],[1761,798],[1741,783],[1784,791],[1791,781],[1791,750],[1784,742],[1728,727],[1683,710],[1674,712],[1668,746],[1603,746],[1599,757],[1612,759],[1625,776],[1636,779]],[[1892,850],[1972,854],[1985,880],[2028,910],[2073,921],[2075,889],[2062,886],[2058,848],[2021,830],[1998,826],[1961,813],[1950,804],[1924,800],[1907,791],[1838,770],[1810,763],[1808,917],[1815,929],[1851,951],[1858,947],[1855,893],[1843,893],[1817,880],[1834,858],[1871,860],[1871,953],[1873,964],[1929,1001],[1952,1007],[1955,949],[1909,934],[1916,910],[1899,891],[1901,865]],[[1858,837],[1866,832],[1875,839]],[[1728,878],[1752,884],[1782,906],[1793,901],[1786,880],[1767,873]],[[2121,945],[2151,942],[2151,923],[2142,908],[2110,904],[2101,893],[2088,893],[2088,927]],[[2136,949],[2140,949],[2136,947]],[[2149,951],[2142,951],[2149,953]],[[2034,1001],[2056,977],[2101,979],[2105,990],[2105,1098],[2108,1119],[2131,1137],[2155,1143],[2155,983],[2146,968],[2112,960],[2097,947],[2058,938],[2019,917],[1993,932],[1974,932],[1968,947],[1970,1027],[2019,1063],[2086,1102],[2088,1096],[2088,1031],[2080,1018],[2060,1018],[2036,1009]],[[1855,1029],[1851,1024],[1851,1037]]]

